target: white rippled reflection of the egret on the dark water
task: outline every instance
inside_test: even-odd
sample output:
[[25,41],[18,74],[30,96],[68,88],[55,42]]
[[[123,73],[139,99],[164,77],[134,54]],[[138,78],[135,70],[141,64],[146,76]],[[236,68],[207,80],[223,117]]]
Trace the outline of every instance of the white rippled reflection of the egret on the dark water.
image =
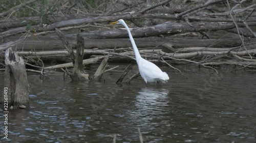
[[[169,91],[166,89],[144,88],[138,92],[130,116],[140,126],[151,126],[157,123],[169,110]],[[154,121],[156,120],[156,121]]]

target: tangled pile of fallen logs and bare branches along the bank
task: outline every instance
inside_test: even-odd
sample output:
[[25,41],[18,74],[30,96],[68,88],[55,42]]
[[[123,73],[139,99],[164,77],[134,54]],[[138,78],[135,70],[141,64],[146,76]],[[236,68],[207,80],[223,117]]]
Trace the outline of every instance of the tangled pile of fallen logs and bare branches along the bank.
[[90,63],[108,53],[112,61],[131,60],[134,53],[126,30],[109,24],[124,19],[134,27],[131,32],[137,47],[149,61],[255,68],[255,7],[254,1],[246,0],[60,0],[47,4],[31,0],[0,14],[0,53],[13,47],[30,62],[70,62],[55,34],[55,28],[60,28],[67,31],[73,48],[77,33],[86,39],[84,53]]

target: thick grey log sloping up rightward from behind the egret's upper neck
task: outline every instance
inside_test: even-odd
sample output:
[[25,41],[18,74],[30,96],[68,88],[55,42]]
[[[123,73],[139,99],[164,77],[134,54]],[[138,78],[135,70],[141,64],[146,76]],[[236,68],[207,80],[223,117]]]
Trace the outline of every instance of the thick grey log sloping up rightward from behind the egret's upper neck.
[[[245,27],[243,23],[237,23],[239,27]],[[249,26],[256,25],[256,19],[254,22],[248,22]],[[207,31],[219,31],[235,28],[236,25],[233,22],[191,22],[191,25],[187,23],[173,23],[165,22],[155,26],[130,28],[133,38],[151,37],[158,35],[170,35],[181,34],[187,32],[207,32]],[[0,35],[1,36],[1,35]],[[75,34],[66,35],[67,37],[74,37]],[[81,36],[88,39],[114,39],[114,38],[127,38],[125,28],[118,28],[116,30],[109,31],[92,31],[81,33]]]

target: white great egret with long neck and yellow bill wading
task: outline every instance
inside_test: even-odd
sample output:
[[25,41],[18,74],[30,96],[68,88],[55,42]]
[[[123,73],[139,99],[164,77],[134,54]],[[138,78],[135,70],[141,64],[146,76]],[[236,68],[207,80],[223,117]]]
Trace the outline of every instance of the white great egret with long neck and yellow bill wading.
[[118,21],[111,22],[110,24],[122,24],[126,28],[128,34],[129,34],[131,43],[133,45],[133,50],[135,53],[137,65],[139,67],[140,75],[144,79],[146,84],[147,84],[147,82],[157,83],[158,81],[161,81],[162,83],[166,83],[167,80],[169,79],[168,74],[166,72],[162,72],[162,70],[158,66],[156,66],[154,63],[151,63],[151,62],[146,61],[145,59],[141,58],[139,50],[138,50],[138,48],[135,44],[135,41],[133,39],[133,36],[129,30],[129,27],[126,25],[126,23],[123,21],[123,19],[119,19]]

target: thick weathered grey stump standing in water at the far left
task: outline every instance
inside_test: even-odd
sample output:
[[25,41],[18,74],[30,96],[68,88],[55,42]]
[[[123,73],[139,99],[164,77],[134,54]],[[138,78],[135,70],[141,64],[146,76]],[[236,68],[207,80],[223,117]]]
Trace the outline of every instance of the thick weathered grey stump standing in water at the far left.
[[[11,48],[5,51],[5,88],[8,88],[8,108],[29,106],[29,84],[24,60]],[[4,103],[3,95],[1,99]]]

